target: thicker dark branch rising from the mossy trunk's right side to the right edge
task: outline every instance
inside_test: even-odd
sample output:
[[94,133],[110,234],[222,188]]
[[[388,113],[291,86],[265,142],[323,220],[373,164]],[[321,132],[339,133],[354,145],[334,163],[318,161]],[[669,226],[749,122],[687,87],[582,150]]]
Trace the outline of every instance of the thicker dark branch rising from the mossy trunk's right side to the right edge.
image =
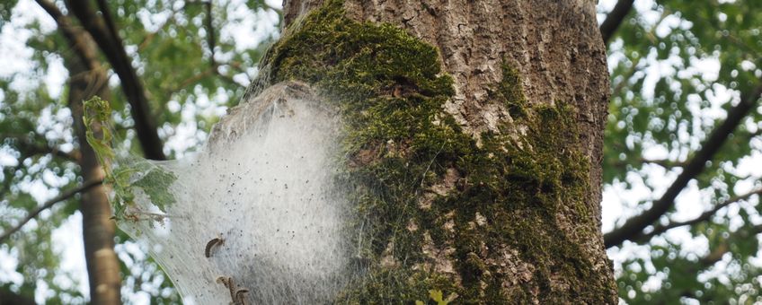
[[664,195],[654,202],[647,211],[630,218],[622,227],[604,234],[603,239],[606,243],[606,248],[621,245],[625,240],[633,240],[641,234],[645,227],[656,222],[661,215],[667,213],[672,205],[674,205],[675,197],[680,194],[691,179],[696,178],[704,170],[706,162],[712,160],[714,153],[720,150],[728,135],[732,133],[736,126],[740,125],[741,120],[754,108],[760,94],[762,94],[762,85],[759,85],[750,94],[742,96],[739,104],[728,111],[728,118],[720,126],[714,128],[712,134],[702,144],[701,149],[691,161],[687,162],[686,166],[683,167],[683,172],[667,188]]

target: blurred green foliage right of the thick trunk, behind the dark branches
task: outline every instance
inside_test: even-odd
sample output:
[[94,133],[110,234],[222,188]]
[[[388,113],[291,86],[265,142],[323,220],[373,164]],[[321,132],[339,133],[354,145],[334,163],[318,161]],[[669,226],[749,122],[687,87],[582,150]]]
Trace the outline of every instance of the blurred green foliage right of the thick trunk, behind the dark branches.
[[[760,5],[646,2],[617,31],[609,45],[604,180],[608,194],[636,198],[620,200],[632,212],[617,224],[658,199],[740,96],[760,85]],[[762,149],[760,119],[762,109],[753,109],[660,224],[692,219],[762,187],[762,173],[749,165],[758,164],[751,160]],[[633,304],[762,301],[760,211],[758,195],[749,196],[706,221],[611,249],[620,297]]]

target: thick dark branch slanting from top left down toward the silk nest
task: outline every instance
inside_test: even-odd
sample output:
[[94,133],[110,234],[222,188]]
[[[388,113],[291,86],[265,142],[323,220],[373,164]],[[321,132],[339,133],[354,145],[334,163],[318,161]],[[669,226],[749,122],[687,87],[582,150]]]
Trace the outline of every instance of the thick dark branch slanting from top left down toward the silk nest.
[[[105,4],[104,4],[105,5]],[[101,48],[103,54],[109,59],[111,66],[119,75],[122,92],[129,101],[132,118],[135,120],[137,140],[140,142],[143,153],[148,159],[164,160],[164,151],[156,125],[148,106],[148,99],[143,84],[140,83],[135,68],[130,64],[131,60],[124,50],[121,39],[116,32],[115,25],[111,20],[107,7],[102,6],[102,15],[99,17],[90,1],[66,1],[66,6],[75,13],[84,29],[90,33]]]

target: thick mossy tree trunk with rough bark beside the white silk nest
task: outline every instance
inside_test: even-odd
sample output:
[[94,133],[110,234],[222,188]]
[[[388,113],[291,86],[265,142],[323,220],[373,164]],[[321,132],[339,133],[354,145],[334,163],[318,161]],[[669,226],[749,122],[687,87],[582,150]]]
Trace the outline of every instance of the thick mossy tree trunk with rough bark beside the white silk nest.
[[345,301],[616,303],[594,1],[284,6],[288,28],[244,101],[298,80],[340,105],[369,240],[356,240],[367,274]]

